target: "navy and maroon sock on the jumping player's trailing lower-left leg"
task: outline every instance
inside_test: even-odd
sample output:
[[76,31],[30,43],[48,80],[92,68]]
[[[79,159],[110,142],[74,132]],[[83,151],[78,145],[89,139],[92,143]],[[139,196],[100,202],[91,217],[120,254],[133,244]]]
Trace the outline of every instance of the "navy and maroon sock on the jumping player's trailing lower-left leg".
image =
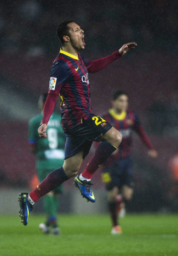
[[29,196],[36,202],[39,198],[47,194],[49,191],[54,190],[54,188],[59,187],[64,181],[69,178],[66,176],[63,167],[51,171],[50,174],[41,182],[39,185],[29,193]]

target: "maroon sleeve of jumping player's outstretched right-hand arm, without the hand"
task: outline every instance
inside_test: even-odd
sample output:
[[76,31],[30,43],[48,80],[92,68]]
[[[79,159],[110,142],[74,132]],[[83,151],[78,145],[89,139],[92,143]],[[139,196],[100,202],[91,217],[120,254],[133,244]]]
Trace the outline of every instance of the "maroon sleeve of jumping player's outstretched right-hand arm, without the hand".
[[112,53],[111,55],[108,55],[104,58],[96,59],[96,60],[88,60],[81,56],[85,66],[87,67],[87,70],[89,73],[95,73],[97,71],[100,71],[106,66],[108,66],[110,63],[112,63],[114,60],[119,59],[121,57],[119,51],[116,51]]

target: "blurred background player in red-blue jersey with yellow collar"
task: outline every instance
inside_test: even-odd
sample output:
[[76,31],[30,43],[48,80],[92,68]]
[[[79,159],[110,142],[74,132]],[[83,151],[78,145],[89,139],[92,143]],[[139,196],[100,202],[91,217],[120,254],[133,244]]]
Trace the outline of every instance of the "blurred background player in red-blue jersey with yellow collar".
[[133,170],[131,164],[132,131],[135,131],[148,148],[150,157],[157,157],[148,136],[143,130],[136,113],[128,110],[128,94],[117,90],[113,93],[112,108],[103,116],[122,134],[122,143],[104,163],[102,181],[108,191],[108,209],[112,220],[112,234],[119,234],[119,212],[124,208],[124,202],[133,196]]

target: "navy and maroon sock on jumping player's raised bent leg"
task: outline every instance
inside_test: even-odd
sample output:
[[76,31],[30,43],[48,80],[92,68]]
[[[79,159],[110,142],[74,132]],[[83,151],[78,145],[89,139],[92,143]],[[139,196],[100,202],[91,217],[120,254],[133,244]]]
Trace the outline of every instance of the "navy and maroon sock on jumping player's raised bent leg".
[[90,159],[87,167],[82,172],[82,176],[91,179],[94,172],[97,168],[100,167],[101,164],[105,162],[105,160],[116,150],[117,148],[114,147],[110,142],[104,141],[97,146],[96,151],[93,157]]

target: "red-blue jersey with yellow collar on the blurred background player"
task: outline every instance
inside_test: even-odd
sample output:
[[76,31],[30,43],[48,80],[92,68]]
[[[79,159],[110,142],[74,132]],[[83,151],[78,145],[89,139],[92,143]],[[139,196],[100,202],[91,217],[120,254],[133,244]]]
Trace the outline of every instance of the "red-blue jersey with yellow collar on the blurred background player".
[[119,145],[118,151],[112,154],[107,160],[106,165],[112,165],[113,162],[120,159],[129,158],[132,153],[132,132],[135,131],[141,138],[148,149],[153,149],[153,146],[143,130],[139,118],[136,113],[127,110],[118,115],[113,109],[109,109],[102,115],[113,127],[115,127],[122,134],[122,142]]

